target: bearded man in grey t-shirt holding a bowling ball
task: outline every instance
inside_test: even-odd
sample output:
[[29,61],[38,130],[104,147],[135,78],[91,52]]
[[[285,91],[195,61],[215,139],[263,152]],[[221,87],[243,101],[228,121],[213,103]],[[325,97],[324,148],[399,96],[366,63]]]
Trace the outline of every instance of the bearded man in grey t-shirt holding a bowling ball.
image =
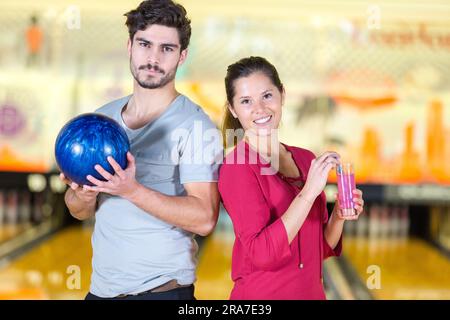
[[195,160],[219,159],[221,144],[198,143],[195,128],[202,128],[200,134],[217,130],[175,89],[191,34],[185,9],[170,0],[147,0],[126,17],[133,94],[97,112],[127,132],[128,166],[120,168],[109,158],[112,175],[97,165],[106,181],[88,176],[94,186],[61,176],[71,186],[65,195],[71,214],[80,220],[95,215],[86,299],[195,299],[193,234],[205,236],[217,222],[220,163]]

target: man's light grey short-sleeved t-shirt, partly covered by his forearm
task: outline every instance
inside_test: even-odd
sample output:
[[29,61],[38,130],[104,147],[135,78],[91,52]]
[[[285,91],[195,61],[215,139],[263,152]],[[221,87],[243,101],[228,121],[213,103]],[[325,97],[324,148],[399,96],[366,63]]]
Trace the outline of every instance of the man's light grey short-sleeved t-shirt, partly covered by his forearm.
[[[131,96],[96,112],[125,129],[139,183],[166,195],[183,196],[188,182],[216,182],[222,157],[219,132],[205,112],[179,95],[154,121],[129,129],[121,113]],[[194,235],[118,196],[100,194],[92,235],[90,292],[115,297],[150,290],[169,280],[196,280]]]

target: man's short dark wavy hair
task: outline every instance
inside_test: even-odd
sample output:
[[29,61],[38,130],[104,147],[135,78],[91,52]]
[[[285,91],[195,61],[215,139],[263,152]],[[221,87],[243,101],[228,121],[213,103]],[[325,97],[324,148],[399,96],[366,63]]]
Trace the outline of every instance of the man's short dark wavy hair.
[[186,9],[172,0],[146,0],[134,10],[125,13],[130,40],[138,30],[145,30],[152,24],[176,28],[180,38],[181,50],[189,45],[191,38],[191,20]]

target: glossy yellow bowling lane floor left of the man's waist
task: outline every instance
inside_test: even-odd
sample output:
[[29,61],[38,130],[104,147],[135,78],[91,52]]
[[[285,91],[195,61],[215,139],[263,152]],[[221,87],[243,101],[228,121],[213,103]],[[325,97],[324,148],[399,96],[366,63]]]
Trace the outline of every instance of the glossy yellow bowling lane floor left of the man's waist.
[[0,299],[83,299],[91,276],[91,228],[69,227],[0,269]]

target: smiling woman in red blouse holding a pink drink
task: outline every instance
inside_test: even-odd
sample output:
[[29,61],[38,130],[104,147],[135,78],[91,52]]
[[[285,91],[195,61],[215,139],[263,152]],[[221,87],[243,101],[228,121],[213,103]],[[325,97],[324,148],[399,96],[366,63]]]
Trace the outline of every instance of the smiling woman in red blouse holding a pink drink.
[[344,221],[362,213],[362,192],[353,191],[355,216],[344,218],[336,203],[328,218],[323,189],[340,157],[277,140],[285,91],[267,60],[230,65],[225,87],[223,129],[243,132],[219,174],[236,236],[230,299],[325,299],[322,261],[340,255]]

